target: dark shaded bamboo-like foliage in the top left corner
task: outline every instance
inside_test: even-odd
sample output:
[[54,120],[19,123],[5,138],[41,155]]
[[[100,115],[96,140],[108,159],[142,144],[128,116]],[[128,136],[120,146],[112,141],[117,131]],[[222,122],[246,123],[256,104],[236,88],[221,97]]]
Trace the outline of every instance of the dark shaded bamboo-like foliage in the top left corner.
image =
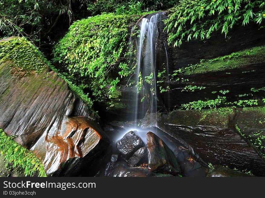
[[0,37],[25,36],[40,44],[59,19],[70,24],[85,5],[83,0],[0,0]]

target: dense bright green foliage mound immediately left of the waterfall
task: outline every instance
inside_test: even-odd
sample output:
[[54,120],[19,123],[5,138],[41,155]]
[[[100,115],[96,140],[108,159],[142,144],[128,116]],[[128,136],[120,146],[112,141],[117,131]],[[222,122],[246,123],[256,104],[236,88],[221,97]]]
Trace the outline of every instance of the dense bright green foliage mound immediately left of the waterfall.
[[77,20],[54,47],[54,63],[67,71],[73,83],[88,85],[96,100],[114,97],[120,79],[133,72],[123,57],[127,56],[127,24],[138,18],[102,14]]

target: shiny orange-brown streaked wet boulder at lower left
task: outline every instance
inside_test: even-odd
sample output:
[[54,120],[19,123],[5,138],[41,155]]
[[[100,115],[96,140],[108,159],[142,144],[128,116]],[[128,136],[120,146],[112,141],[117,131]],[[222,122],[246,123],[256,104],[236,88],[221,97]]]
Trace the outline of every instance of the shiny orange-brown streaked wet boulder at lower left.
[[[58,133],[44,134],[31,150],[41,159],[48,175],[73,174],[79,169],[74,167],[76,164],[88,163],[107,146],[101,134],[101,128],[94,121],[65,116]],[[70,171],[72,169],[74,171]]]

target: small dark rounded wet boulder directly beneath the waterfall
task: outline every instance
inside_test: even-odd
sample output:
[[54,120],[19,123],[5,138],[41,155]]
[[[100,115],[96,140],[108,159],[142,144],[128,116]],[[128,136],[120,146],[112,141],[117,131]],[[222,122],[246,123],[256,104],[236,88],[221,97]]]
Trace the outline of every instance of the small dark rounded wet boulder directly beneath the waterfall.
[[122,139],[117,141],[116,147],[125,159],[129,159],[136,150],[142,147],[142,140],[135,134],[136,131],[126,133]]

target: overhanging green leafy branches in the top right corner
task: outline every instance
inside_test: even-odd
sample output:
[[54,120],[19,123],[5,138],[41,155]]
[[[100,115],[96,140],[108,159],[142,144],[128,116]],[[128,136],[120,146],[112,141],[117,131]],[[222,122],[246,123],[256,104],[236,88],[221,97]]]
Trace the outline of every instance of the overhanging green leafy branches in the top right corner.
[[264,8],[263,0],[180,0],[165,20],[168,42],[181,46],[194,38],[208,39],[218,30],[226,35],[236,24],[261,24]]

